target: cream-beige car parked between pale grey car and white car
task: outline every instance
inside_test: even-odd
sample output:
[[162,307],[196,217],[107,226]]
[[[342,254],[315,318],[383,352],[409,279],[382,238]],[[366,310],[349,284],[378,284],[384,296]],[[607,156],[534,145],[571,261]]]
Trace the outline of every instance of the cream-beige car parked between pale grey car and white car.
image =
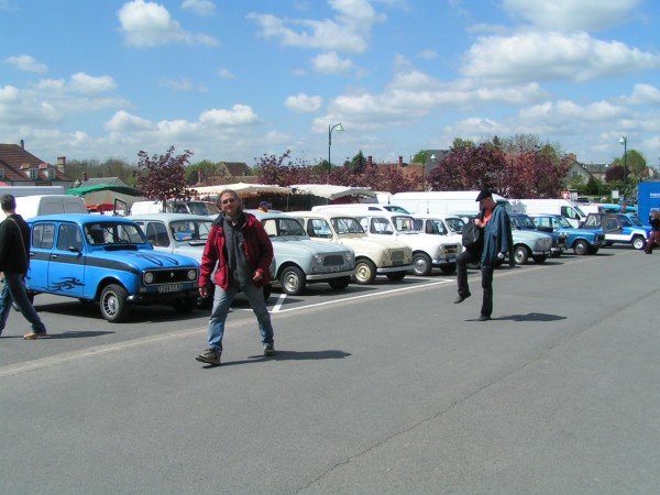
[[413,251],[403,242],[370,238],[360,221],[343,212],[294,211],[307,234],[317,241],[336,242],[355,252],[358,284],[373,284],[376,275],[402,280],[413,268]]

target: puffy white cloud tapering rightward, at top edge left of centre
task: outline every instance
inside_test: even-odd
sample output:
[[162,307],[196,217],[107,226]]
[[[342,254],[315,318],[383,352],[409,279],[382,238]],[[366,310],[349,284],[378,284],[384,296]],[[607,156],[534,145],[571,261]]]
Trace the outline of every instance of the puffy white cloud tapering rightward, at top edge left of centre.
[[132,0],[117,14],[120,31],[129,46],[158,46],[169,43],[217,44],[211,36],[185,31],[167,9],[158,3]]

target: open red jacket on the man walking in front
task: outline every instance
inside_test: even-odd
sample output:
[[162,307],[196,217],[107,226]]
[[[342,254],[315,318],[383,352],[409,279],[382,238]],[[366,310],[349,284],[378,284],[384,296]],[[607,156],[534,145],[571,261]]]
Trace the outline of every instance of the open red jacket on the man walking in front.
[[[273,244],[264,227],[254,215],[242,212],[245,217],[241,232],[245,240],[245,258],[252,270],[261,272],[264,276],[262,285],[271,284],[271,264],[273,263]],[[227,266],[227,255],[224,252],[224,216],[218,216],[213,222],[209,239],[207,240],[201,255],[201,270],[199,273],[199,286],[208,287],[211,285],[211,274],[216,270],[216,285],[227,289],[229,287],[229,268]]]

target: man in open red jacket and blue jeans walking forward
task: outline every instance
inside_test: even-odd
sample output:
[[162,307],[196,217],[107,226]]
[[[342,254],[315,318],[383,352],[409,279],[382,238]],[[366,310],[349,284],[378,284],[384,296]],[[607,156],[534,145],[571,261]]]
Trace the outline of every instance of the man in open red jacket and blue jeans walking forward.
[[[220,365],[224,322],[239,290],[243,292],[256,316],[264,355],[274,355],[273,326],[263,295],[263,286],[271,284],[273,244],[257,218],[243,211],[234,190],[223,190],[218,207],[221,213],[209,232],[199,274],[202,298],[209,296],[211,284],[216,285],[207,332],[209,349],[196,359]],[[213,271],[216,275],[211,280]]]

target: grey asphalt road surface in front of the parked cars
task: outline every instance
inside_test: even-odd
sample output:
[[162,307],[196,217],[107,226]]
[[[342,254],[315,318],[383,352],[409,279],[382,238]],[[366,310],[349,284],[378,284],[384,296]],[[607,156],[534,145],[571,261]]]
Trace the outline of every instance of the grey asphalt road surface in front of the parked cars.
[[207,314],[40,296],[52,339],[0,339],[0,493],[658,493],[659,254],[274,294],[278,353],[241,301]]

